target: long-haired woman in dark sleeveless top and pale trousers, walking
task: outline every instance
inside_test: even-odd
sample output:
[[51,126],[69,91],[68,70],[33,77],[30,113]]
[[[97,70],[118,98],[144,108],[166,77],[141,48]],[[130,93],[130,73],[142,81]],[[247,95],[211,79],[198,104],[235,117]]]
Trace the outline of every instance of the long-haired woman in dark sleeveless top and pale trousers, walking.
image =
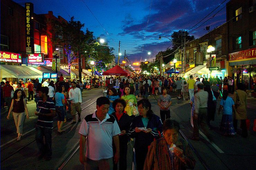
[[20,141],[23,131],[23,123],[25,119],[25,112],[28,119],[28,108],[27,103],[25,99],[25,94],[22,92],[22,90],[18,89],[13,94],[13,99],[11,102],[11,107],[7,116],[7,119],[10,118],[10,113],[13,114],[13,119],[15,121],[15,125],[17,128],[17,141]]

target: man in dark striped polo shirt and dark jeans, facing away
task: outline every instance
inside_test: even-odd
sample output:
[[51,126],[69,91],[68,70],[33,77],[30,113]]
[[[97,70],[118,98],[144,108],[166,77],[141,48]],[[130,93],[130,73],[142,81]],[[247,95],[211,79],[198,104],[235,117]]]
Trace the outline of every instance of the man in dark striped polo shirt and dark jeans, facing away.
[[[35,111],[35,115],[38,116],[36,142],[40,152],[39,159],[44,157],[46,161],[52,159],[52,129],[55,116],[55,105],[53,100],[49,99],[48,92],[47,87],[42,87],[39,90],[39,97],[42,100],[38,101],[39,111]],[[43,138],[45,138],[45,143]]]

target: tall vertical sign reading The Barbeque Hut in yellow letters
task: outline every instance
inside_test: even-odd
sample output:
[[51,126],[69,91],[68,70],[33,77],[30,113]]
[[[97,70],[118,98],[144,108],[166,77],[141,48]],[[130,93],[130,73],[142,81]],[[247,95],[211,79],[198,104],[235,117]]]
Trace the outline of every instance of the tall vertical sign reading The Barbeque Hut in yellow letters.
[[34,14],[34,4],[25,3],[26,8],[26,53],[34,53],[34,22],[31,17]]

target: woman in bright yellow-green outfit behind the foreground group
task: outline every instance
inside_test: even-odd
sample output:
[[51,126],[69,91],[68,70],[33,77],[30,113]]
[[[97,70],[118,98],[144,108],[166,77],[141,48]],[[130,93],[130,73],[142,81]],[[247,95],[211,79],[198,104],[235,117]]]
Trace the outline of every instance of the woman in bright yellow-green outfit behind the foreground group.
[[121,99],[124,99],[126,101],[126,107],[125,107],[125,112],[129,115],[133,115],[133,109],[134,107],[137,106],[137,99],[134,94],[131,94],[131,89],[129,86],[125,87],[124,90],[124,96],[121,97]]

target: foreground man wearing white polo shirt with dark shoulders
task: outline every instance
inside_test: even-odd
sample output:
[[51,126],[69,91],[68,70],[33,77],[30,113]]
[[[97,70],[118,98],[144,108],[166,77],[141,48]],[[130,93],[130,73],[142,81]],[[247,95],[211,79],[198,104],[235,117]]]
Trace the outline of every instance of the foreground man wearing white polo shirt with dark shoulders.
[[[120,129],[114,116],[107,114],[109,99],[100,97],[96,101],[97,111],[87,115],[80,127],[80,162],[86,170],[112,170],[113,158],[119,160]],[[84,154],[87,137],[86,154]],[[114,141],[116,152],[113,154]]]

